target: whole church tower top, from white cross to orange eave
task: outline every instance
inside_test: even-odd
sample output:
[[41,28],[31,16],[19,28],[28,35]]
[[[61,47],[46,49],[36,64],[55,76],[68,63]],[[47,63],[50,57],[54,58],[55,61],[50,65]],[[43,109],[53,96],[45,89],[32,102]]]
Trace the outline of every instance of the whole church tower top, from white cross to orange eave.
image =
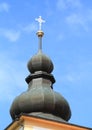
[[90,130],[90,128],[68,123],[71,109],[67,100],[53,90],[53,62],[42,51],[41,29],[45,21],[39,16],[38,52],[27,64],[30,75],[28,89],[16,97],[10,107],[13,122],[5,130]]

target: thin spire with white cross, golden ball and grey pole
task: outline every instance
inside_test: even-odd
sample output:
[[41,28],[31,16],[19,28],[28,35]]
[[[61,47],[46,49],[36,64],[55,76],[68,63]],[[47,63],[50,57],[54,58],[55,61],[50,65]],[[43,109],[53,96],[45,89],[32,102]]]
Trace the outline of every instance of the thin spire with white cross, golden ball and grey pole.
[[43,20],[41,16],[39,16],[39,18],[36,18],[35,20],[39,23],[39,30],[36,33],[38,36],[38,40],[39,40],[38,52],[42,52],[42,37],[44,35],[44,33],[42,31],[42,23],[44,23],[45,20]]

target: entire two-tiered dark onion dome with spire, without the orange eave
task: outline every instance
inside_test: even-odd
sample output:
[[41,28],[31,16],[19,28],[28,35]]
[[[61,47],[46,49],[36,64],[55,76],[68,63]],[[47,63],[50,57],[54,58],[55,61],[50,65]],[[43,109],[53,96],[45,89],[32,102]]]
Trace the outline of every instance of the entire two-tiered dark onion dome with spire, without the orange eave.
[[[41,17],[39,22],[42,23]],[[40,25],[39,25],[40,26]],[[16,119],[20,114],[34,115],[55,121],[68,121],[71,117],[71,110],[68,102],[58,92],[53,91],[55,83],[53,63],[49,57],[42,53],[43,32],[37,32],[39,39],[38,53],[28,62],[30,75],[26,78],[28,90],[15,98],[10,114]]]

